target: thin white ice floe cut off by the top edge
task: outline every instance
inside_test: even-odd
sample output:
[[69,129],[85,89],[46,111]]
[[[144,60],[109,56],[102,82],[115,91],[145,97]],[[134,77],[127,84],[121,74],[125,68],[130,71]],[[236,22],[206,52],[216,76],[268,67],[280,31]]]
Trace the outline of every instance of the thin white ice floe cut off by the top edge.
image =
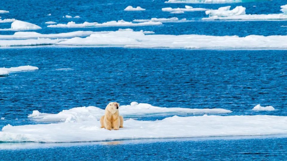
[[260,0],[168,0],[164,3],[241,3],[241,2],[252,2],[252,1],[260,1]]

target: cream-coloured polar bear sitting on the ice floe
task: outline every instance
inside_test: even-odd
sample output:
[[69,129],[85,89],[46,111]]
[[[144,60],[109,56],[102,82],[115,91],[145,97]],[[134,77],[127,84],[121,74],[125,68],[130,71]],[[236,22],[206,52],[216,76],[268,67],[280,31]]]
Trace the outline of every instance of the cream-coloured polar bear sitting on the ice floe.
[[108,130],[118,130],[123,127],[123,116],[119,113],[120,104],[117,102],[110,102],[105,109],[105,115],[101,117],[101,128]]

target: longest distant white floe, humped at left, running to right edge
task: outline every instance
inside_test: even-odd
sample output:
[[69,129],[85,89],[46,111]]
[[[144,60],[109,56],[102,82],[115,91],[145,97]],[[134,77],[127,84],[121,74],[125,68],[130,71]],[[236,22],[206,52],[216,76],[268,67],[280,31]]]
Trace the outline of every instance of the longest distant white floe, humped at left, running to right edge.
[[185,49],[287,49],[287,35],[209,36],[209,35],[145,35],[143,32],[114,31],[71,38],[58,45],[107,45],[135,48]]

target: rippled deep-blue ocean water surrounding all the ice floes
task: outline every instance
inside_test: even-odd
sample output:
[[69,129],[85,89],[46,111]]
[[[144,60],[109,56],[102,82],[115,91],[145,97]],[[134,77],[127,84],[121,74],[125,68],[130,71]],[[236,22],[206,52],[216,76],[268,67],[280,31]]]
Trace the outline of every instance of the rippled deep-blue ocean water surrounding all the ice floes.
[[[17,5],[15,5],[17,4]],[[281,13],[283,0],[236,4],[190,4],[213,8],[243,5],[247,14]],[[145,12],[124,12],[128,5]],[[39,33],[78,30],[110,31],[119,28],[154,31],[156,34],[200,35],[286,35],[286,21],[200,21],[204,12],[172,15],[163,7],[184,7],[162,1],[59,1],[2,0],[4,18],[16,18],[41,26]],[[253,6],[256,7],[253,7]],[[47,14],[51,13],[51,16]],[[67,19],[62,16],[80,16]],[[67,23],[106,22],[123,19],[187,18],[184,23],[161,26],[47,28],[46,21]],[[0,28],[10,28],[9,23]],[[13,34],[0,31],[1,35]],[[121,105],[132,101],[160,107],[224,108],[222,115],[268,114],[287,116],[286,50],[186,50],[126,49],[95,47],[0,48],[0,66],[33,65],[37,71],[15,72],[0,78],[0,129],[11,124],[36,124],[27,118],[33,110],[58,113],[79,106],[105,108],[111,101]],[[69,70],[57,70],[70,68]],[[274,106],[276,111],[254,112],[257,104]],[[152,116],[139,120],[156,120]],[[16,120],[17,119],[17,120]],[[128,143],[85,143],[55,146],[44,143],[0,143],[0,160],[284,160],[286,138],[208,138],[178,140],[139,140]],[[114,145],[116,144],[116,145]],[[19,145],[19,146],[18,146]],[[21,148],[23,145],[23,148]],[[25,148],[28,145],[28,148]],[[35,148],[33,148],[35,145]],[[17,148],[1,148],[13,147]],[[19,148],[20,147],[20,148]],[[109,155],[117,154],[117,158]]]

